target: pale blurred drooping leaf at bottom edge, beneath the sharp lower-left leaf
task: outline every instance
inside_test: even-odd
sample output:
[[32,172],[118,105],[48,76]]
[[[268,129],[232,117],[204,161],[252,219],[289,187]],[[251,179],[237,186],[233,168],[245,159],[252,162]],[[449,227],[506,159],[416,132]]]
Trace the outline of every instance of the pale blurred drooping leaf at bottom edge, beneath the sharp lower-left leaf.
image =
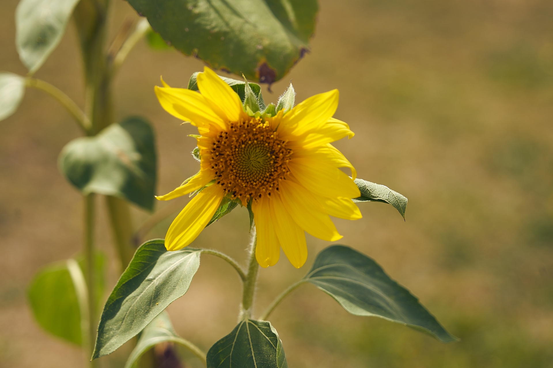
[[129,355],[124,368],[137,367],[139,359],[144,353],[152,349],[155,345],[166,342],[186,346],[186,341],[182,340],[179,335],[176,334],[173,324],[171,324],[169,314],[163,311],[142,330],[140,339],[131,355]]

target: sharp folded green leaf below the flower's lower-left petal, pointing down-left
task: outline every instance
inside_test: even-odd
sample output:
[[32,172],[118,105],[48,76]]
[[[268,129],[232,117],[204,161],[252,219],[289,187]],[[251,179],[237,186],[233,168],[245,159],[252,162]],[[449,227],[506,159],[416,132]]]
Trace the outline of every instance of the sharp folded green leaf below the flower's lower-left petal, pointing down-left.
[[148,240],[134,254],[104,306],[92,359],[112,353],[188,291],[200,266],[200,250],[167,251]]

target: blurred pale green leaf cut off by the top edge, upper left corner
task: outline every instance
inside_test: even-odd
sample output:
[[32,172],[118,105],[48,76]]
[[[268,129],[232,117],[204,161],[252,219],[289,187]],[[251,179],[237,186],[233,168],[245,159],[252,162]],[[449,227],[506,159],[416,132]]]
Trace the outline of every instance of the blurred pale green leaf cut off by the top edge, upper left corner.
[[30,73],[60,43],[79,0],[21,0],[15,9],[15,46]]

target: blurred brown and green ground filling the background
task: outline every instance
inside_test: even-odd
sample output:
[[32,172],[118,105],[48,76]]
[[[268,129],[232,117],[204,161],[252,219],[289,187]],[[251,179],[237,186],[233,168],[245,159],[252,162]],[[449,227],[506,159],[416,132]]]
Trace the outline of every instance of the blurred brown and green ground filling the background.
[[[0,2],[0,70],[24,74],[14,46],[16,4]],[[134,12],[125,2],[114,8],[117,29]],[[272,94],[265,88],[265,101],[276,102],[290,79],[296,101],[340,90],[336,117],[356,136],[336,145],[359,177],[409,198],[406,222],[391,206],[359,204],[363,219],[336,220],[345,235],[340,243],[377,260],[461,341],[444,345],[401,325],[351,316],[302,286],[272,317],[290,367],[553,367],[551,19],[547,0],[321,1],[310,54]],[[118,117],[142,114],[155,125],[158,193],[178,186],[197,164],[186,136],[193,127],[160,108],[153,86],[163,75],[184,87],[201,68],[199,60],[142,43],[117,78]],[[82,106],[81,72],[70,28],[37,77]],[[69,114],[34,90],[0,123],[2,368],[82,364],[79,350],[37,327],[25,303],[35,270],[81,246],[81,198],[56,167],[61,148],[78,135]],[[98,202],[98,246],[111,254]],[[135,223],[145,218],[134,212]],[[170,220],[148,238],[163,237]],[[236,210],[195,245],[244,259],[247,224],[247,211]],[[307,243],[302,269],[283,255],[260,271],[258,312],[330,244],[311,236]],[[176,330],[207,350],[234,327],[240,290],[222,261],[202,258],[189,293],[169,307]],[[102,366],[121,366],[123,353]]]

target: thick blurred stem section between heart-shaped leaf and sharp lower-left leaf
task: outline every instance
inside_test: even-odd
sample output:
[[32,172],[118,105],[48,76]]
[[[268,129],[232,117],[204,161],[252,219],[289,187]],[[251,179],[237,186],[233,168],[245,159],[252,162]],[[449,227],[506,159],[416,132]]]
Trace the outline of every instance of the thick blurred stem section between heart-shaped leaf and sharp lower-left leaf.
[[119,256],[121,272],[123,272],[134,254],[131,211],[127,202],[117,197],[106,196],[106,206],[111,223],[113,244]]

